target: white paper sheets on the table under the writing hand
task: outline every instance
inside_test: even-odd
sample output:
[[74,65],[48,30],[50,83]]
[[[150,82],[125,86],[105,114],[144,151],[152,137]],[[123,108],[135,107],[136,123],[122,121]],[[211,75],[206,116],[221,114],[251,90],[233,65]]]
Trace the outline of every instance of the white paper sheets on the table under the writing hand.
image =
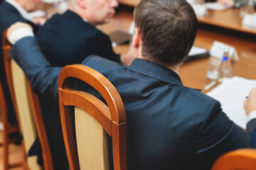
[[247,115],[243,108],[243,101],[249,95],[250,89],[255,86],[256,80],[242,77],[225,78],[222,84],[207,95],[220,101],[224,113],[230,120],[233,120],[241,128],[246,128]]

